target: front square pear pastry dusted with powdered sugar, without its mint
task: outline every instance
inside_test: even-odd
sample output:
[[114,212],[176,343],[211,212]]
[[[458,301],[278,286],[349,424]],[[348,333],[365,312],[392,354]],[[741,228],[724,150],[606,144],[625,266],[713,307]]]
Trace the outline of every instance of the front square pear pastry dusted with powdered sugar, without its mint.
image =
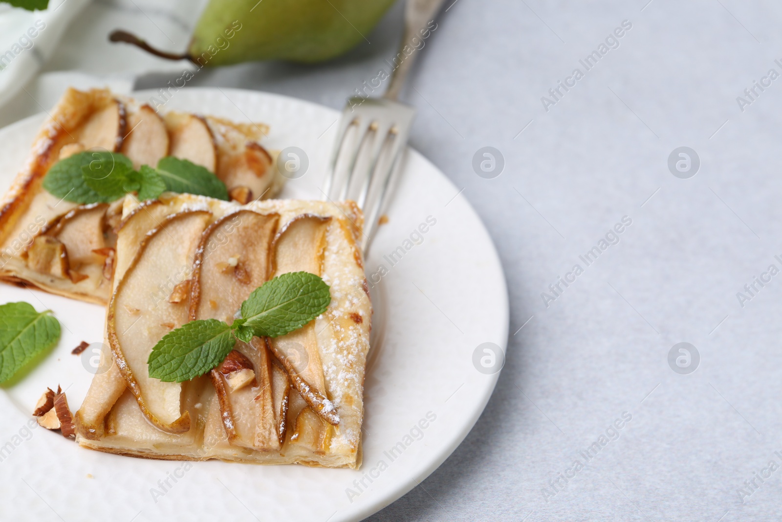
[[[117,233],[107,338],[113,361],[75,416],[85,448],[150,459],[361,464],[371,303],[351,202],[246,205],[178,195],[128,198]],[[149,377],[152,347],[192,319],[231,322],[256,287],[286,272],[330,286],[328,309],[272,340],[237,340],[184,383]]]

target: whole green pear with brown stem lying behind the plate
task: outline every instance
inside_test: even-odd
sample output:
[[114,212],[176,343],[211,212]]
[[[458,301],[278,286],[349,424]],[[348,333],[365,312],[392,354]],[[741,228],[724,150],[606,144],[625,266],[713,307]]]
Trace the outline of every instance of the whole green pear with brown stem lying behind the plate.
[[314,63],[352,49],[394,0],[210,0],[185,54],[160,52],[125,31],[111,41],[169,59],[220,66],[264,59]]

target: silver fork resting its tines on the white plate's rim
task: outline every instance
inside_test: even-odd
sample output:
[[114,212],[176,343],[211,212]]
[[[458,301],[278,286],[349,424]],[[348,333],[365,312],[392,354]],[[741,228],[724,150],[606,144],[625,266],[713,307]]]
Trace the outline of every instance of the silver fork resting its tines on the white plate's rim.
[[[364,211],[364,252],[375,237],[378,219],[388,203],[415,116],[412,107],[396,102],[420,50],[414,38],[425,40],[421,33],[425,34],[443,2],[407,0],[404,36],[386,94],[382,98],[353,96],[339,121],[323,193],[327,200],[355,200]],[[415,50],[408,55],[405,46]]]

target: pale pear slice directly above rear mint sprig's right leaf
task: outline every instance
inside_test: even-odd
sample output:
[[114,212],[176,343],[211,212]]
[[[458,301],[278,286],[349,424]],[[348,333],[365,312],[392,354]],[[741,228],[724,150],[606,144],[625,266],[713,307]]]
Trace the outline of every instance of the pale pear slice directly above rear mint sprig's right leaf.
[[212,131],[203,117],[171,113],[167,116],[167,126],[171,135],[170,156],[190,160],[214,172],[217,165],[217,149]]

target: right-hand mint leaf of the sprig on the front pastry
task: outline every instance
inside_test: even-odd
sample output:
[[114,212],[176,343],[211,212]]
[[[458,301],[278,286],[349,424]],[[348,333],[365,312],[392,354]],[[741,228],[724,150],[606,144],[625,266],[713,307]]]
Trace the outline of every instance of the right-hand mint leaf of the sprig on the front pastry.
[[242,303],[242,328],[258,337],[279,337],[321,315],[332,301],[328,285],[309,272],[289,272],[253,290]]

